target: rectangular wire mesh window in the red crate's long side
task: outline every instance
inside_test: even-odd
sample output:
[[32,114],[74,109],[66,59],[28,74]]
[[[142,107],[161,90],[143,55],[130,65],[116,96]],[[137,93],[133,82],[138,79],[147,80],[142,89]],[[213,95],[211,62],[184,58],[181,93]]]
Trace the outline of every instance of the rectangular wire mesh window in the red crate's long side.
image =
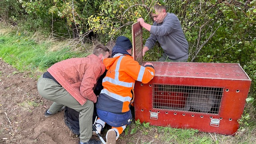
[[153,108],[218,114],[223,88],[153,84]]

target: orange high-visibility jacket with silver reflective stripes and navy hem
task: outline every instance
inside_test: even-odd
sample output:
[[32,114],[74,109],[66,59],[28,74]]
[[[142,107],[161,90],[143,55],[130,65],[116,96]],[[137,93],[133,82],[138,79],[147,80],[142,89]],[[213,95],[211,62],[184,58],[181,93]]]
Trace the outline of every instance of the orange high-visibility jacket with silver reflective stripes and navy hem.
[[[116,55],[115,55],[116,56]],[[146,84],[155,76],[152,66],[141,66],[132,56],[122,55],[104,59],[107,74],[102,81],[96,108],[108,112],[128,112],[134,99],[135,81]]]

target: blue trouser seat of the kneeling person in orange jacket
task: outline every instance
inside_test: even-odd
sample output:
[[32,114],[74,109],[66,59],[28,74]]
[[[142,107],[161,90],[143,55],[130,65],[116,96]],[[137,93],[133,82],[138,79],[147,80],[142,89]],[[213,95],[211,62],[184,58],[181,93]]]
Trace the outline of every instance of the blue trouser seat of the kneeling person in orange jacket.
[[124,114],[116,114],[112,112],[97,109],[97,115],[100,120],[103,120],[112,127],[121,127],[132,123],[132,112],[129,110]]

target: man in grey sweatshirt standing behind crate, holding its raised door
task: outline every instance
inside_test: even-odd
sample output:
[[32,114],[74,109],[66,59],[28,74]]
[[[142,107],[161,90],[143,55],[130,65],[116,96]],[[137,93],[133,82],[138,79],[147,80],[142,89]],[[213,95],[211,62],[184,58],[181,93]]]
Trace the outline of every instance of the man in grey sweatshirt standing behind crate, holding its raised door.
[[142,55],[144,56],[145,52],[158,41],[164,50],[158,61],[187,62],[188,41],[184,36],[178,17],[173,13],[166,12],[166,7],[160,3],[154,6],[151,15],[154,18],[153,25],[145,23],[143,18],[137,20],[141,27],[150,32]]

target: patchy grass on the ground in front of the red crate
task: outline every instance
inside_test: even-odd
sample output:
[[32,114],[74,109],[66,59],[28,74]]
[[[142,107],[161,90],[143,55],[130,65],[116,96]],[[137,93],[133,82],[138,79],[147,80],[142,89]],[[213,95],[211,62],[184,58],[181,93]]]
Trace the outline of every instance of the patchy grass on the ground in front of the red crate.
[[[252,121],[246,131],[238,131],[236,136],[224,136],[216,133],[200,132],[196,129],[180,129],[171,127],[146,126],[144,123],[138,124],[136,121],[125,129],[124,134],[120,136],[121,139],[132,140],[133,136],[143,135],[148,132],[147,136],[159,140],[162,144],[255,144],[255,121]],[[136,132],[133,130],[136,129]],[[126,138],[128,137],[128,138]],[[152,140],[143,140],[139,144],[153,144]],[[130,144],[130,143],[129,143]],[[132,144],[132,143],[131,143]]]

